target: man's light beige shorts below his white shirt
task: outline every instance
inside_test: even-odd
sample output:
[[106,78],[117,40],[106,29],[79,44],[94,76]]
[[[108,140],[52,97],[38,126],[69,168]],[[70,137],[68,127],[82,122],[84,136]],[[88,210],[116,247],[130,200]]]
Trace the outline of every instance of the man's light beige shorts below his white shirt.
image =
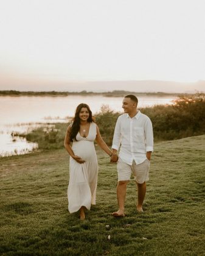
[[130,180],[131,172],[133,172],[134,179],[137,183],[141,184],[147,182],[149,180],[149,169],[150,161],[148,159],[145,159],[144,162],[139,165],[136,165],[133,160],[133,164],[128,165],[119,158],[117,162],[118,181]]

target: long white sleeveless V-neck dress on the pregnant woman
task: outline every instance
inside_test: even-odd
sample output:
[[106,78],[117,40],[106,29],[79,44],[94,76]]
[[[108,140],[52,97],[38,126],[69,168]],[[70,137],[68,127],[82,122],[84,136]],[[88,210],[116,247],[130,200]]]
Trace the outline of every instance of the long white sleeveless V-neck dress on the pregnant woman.
[[91,204],[96,204],[96,188],[98,163],[94,140],[96,139],[96,124],[91,123],[88,137],[84,138],[77,133],[72,144],[72,151],[85,163],[78,163],[70,157],[69,185],[68,185],[68,210],[70,213],[77,212],[82,206],[88,210]]

